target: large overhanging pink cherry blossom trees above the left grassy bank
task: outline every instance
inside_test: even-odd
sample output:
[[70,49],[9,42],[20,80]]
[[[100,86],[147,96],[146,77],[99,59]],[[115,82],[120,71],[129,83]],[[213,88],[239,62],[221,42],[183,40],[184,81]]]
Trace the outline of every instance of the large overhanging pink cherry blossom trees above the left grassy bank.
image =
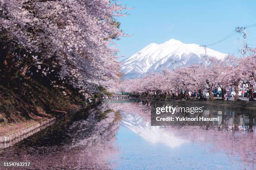
[[113,39],[123,35],[115,17],[125,8],[116,0],[0,0],[0,71],[43,75],[85,97],[101,86],[113,91],[120,78]]

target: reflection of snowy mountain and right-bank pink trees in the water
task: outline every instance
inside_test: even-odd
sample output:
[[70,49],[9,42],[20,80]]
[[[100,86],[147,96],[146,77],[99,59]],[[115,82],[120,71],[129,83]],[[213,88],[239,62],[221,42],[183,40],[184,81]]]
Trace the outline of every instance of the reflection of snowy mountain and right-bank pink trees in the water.
[[[240,156],[252,168],[256,164],[256,135],[254,115],[234,110],[205,110],[205,116],[220,116],[212,128],[200,126],[151,126],[150,101],[108,103],[108,107],[121,110],[122,125],[131,129],[150,143],[174,148],[184,143],[213,145],[212,152],[224,151],[228,156]],[[251,127],[250,127],[251,126]],[[249,129],[250,128],[250,129]]]

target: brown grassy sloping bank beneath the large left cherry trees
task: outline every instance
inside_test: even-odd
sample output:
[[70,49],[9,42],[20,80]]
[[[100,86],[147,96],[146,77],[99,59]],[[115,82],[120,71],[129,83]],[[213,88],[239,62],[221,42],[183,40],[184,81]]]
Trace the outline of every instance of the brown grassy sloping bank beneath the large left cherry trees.
[[2,75],[0,80],[0,137],[11,139],[16,133],[28,133],[84,103],[77,90],[65,88],[65,95],[49,80],[19,74],[11,78]]

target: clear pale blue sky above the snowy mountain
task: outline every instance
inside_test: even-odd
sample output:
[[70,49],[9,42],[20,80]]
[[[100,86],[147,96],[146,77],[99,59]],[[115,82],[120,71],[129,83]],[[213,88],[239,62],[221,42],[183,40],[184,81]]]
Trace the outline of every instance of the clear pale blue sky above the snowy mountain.
[[[119,55],[125,56],[120,60],[152,42],[163,43],[174,38],[184,43],[211,44],[238,26],[256,23],[255,0],[121,1],[134,9],[127,11],[128,16],[118,18],[121,29],[131,35],[116,41]],[[256,27],[247,32],[248,44],[256,45]],[[242,46],[243,36],[238,34],[210,48],[238,55]]]

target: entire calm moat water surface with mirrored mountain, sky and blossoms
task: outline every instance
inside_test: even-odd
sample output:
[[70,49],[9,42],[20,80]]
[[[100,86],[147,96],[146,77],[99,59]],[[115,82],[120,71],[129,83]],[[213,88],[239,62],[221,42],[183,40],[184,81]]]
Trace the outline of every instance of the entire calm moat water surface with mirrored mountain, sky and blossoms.
[[[214,122],[208,130],[199,126],[151,126],[149,103],[108,100],[64,117],[13,147],[1,149],[0,168],[22,169],[3,167],[3,162],[30,162],[23,168],[256,169],[256,134],[248,130],[248,123],[255,122],[253,115],[213,110],[223,121]],[[211,111],[205,110],[204,116]]]

